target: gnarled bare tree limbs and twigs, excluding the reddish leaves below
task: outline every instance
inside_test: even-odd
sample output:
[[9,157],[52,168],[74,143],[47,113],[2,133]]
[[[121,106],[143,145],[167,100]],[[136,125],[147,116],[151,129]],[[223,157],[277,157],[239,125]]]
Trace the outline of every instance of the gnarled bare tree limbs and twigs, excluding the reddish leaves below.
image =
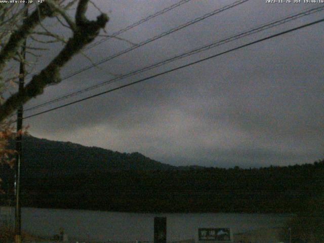
[[[103,29],[108,21],[108,17],[105,14],[100,14],[97,20],[90,21],[86,18],[86,11],[89,0],[78,0],[65,3],[66,1],[59,0],[46,0],[44,3],[39,4],[36,8],[24,19],[23,24],[15,26],[16,20],[21,16],[21,9],[15,12],[11,12],[11,16],[3,20],[15,24],[11,25],[7,29],[6,35],[3,37],[4,43],[2,43],[2,49],[0,51],[0,74],[5,71],[6,66],[12,60],[20,60],[21,54],[19,48],[21,47],[24,39],[27,36],[38,42],[35,35],[46,35],[52,38],[52,42],[61,41],[66,42],[60,53],[53,58],[53,60],[44,67],[40,72],[33,75],[30,82],[24,87],[22,92],[17,92],[10,95],[7,99],[2,97],[2,103],[0,105],[0,122],[3,122],[10,114],[12,114],[20,105],[26,103],[31,98],[34,98],[43,93],[44,89],[53,84],[60,83],[60,70],[61,68],[77,53],[79,53],[87,44],[91,43]],[[67,14],[67,10],[76,3],[75,18],[72,19]],[[6,16],[10,7],[0,7],[0,15]],[[16,13],[17,12],[17,13]],[[72,36],[65,41],[58,34],[52,33],[46,30],[42,26],[42,22],[46,18],[57,18],[60,20],[62,26],[68,26],[72,31]],[[1,21],[1,20],[0,20]],[[2,23],[0,23],[1,25]],[[10,25],[10,24],[9,24]],[[45,31],[37,32],[35,29],[38,26],[44,27]],[[14,29],[12,29],[14,28]],[[51,41],[47,41],[48,43]],[[32,50],[32,47],[27,47],[27,50]],[[37,48],[34,48],[35,50]],[[1,80],[3,89],[6,89],[9,82],[17,78],[11,76],[6,80]]]

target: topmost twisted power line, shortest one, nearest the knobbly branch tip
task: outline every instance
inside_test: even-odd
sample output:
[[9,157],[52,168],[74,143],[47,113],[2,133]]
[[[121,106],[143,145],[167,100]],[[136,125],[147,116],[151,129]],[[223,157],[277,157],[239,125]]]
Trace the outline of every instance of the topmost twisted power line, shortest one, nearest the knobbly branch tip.
[[134,27],[136,27],[136,26],[138,26],[138,25],[140,25],[142,23],[145,23],[146,21],[148,21],[150,19],[153,19],[153,18],[155,18],[155,17],[157,17],[157,16],[159,16],[161,14],[164,14],[166,12],[169,12],[170,10],[173,10],[173,9],[175,9],[175,8],[177,8],[177,7],[179,7],[179,6],[183,5],[183,4],[186,4],[186,3],[190,2],[190,1],[191,0],[181,0],[180,2],[178,2],[178,3],[174,4],[174,5],[171,5],[171,6],[165,8],[165,9],[163,9],[161,11],[158,11],[158,12],[152,14],[152,15],[149,15],[146,18],[141,19],[140,21],[129,25],[124,29],[120,29],[120,30],[112,33],[110,36],[107,36],[107,37],[101,39],[100,41],[93,43],[92,45],[86,47],[84,50],[89,50],[91,48],[94,48],[94,47],[98,46],[99,44],[101,44],[101,43],[103,43],[105,41],[108,41],[108,39],[111,39],[111,38],[113,38],[113,37],[115,37],[115,36],[117,36],[117,35],[119,35],[121,33],[124,33],[124,32],[126,32],[126,31],[128,31],[128,30],[130,30],[130,29],[132,29],[132,28],[134,28]]

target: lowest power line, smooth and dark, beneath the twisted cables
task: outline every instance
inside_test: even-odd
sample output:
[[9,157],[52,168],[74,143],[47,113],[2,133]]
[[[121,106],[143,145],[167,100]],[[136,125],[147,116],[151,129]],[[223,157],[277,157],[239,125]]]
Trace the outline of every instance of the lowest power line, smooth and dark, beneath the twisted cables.
[[128,87],[128,86],[131,86],[131,85],[135,85],[135,84],[144,82],[145,80],[148,80],[148,79],[151,79],[151,78],[154,78],[154,77],[157,77],[157,76],[161,76],[161,75],[164,75],[164,74],[167,74],[167,73],[170,73],[170,72],[173,72],[173,71],[176,71],[176,70],[179,70],[179,69],[182,69],[182,68],[185,68],[185,67],[188,67],[188,66],[191,66],[191,65],[194,65],[194,64],[197,64],[197,63],[200,63],[200,62],[203,62],[203,61],[218,57],[218,56],[221,56],[221,55],[224,55],[226,53],[230,53],[230,52],[236,51],[238,49],[242,49],[242,48],[245,48],[245,47],[248,47],[248,46],[263,42],[263,41],[266,41],[267,39],[271,39],[271,38],[280,36],[282,34],[286,34],[286,33],[293,32],[293,31],[298,30],[298,29],[302,29],[302,28],[305,28],[305,27],[308,27],[308,26],[311,26],[311,25],[314,25],[314,24],[318,24],[318,23],[323,22],[323,21],[324,21],[324,18],[320,19],[320,20],[317,20],[317,21],[314,21],[314,22],[311,22],[311,23],[308,23],[308,24],[304,24],[304,25],[301,25],[301,26],[286,30],[286,31],[283,31],[283,32],[280,32],[280,33],[277,33],[277,34],[273,34],[273,35],[267,36],[265,38],[258,39],[257,41],[250,42],[248,44],[245,44],[245,45],[242,45],[242,46],[227,50],[225,52],[218,53],[216,55],[212,55],[212,56],[207,57],[207,58],[200,59],[198,61],[194,61],[194,62],[185,64],[185,65],[182,65],[180,67],[170,69],[168,71],[160,72],[160,73],[151,75],[149,77],[142,78],[142,79],[137,80],[135,82],[132,82],[132,83],[129,83],[129,84],[126,84],[126,85],[122,85],[122,86],[116,87],[114,89],[110,89],[110,90],[107,90],[107,91],[104,91],[104,92],[101,92],[101,93],[98,93],[98,94],[95,94],[95,95],[92,95],[92,96],[88,96],[88,97],[83,98],[83,99],[79,99],[79,100],[76,100],[76,101],[73,101],[73,102],[70,102],[70,103],[67,103],[67,104],[64,104],[64,105],[57,106],[57,107],[52,108],[52,109],[48,109],[48,110],[38,112],[38,113],[33,114],[33,115],[26,116],[26,117],[24,117],[24,119],[27,119],[27,118],[30,118],[30,117],[33,117],[33,116],[37,116],[37,115],[41,115],[41,114],[44,114],[44,113],[47,113],[47,112],[50,112],[50,111],[53,111],[53,110],[57,110],[57,109],[65,107],[65,106],[72,105],[72,104],[75,104],[75,103],[79,103],[79,102],[82,102],[82,101],[85,101],[85,100],[88,100],[88,99],[91,99],[91,98],[94,98],[94,97],[97,97],[97,96],[100,96],[100,95],[103,95],[103,94],[107,94],[107,93],[110,93],[110,92],[113,92],[113,91],[116,91],[116,90],[119,90],[119,89],[122,89],[122,88],[125,88],[125,87]]

